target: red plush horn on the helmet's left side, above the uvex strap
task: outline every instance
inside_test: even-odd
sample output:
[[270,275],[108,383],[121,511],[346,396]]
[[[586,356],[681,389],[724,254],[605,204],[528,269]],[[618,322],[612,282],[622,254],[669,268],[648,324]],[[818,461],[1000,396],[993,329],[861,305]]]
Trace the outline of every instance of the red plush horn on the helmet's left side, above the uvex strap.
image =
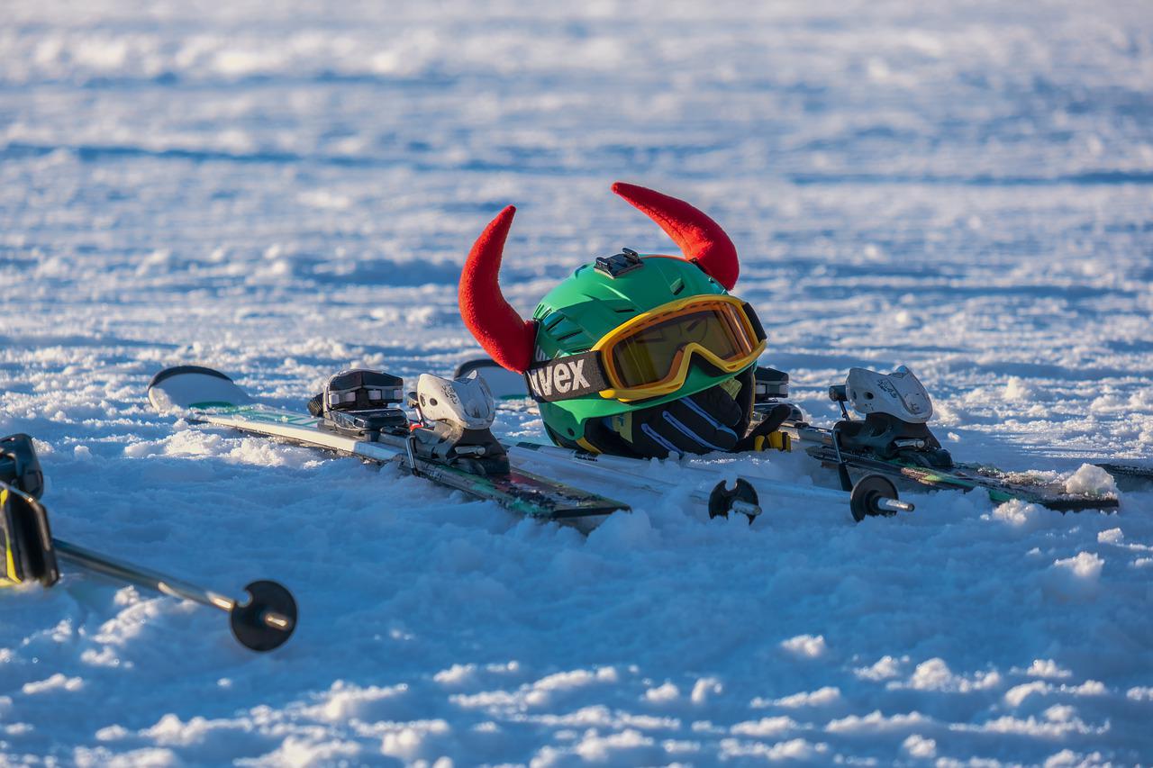
[[460,272],[460,317],[500,366],[523,374],[533,362],[536,326],[526,323],[500,293],[497,272],[517,209],[510,205],[484,227]]

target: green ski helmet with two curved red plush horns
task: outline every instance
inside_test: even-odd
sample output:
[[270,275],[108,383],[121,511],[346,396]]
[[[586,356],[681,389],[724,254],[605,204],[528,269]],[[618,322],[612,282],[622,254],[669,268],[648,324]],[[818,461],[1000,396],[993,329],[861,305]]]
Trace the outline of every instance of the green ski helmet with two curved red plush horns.
[[[517,372],[527,371],[549,436],[560,445],[605,450],[597,436],[606,419],[686,398],[738,377],[748,379],[741,387],[747,393],[743,407],[751,412],[755,355],[747,364],[741,362],[739,370],[698,364],[694,357],[683,379],[678,378],[677,389],[655,397],[602,394],[613,387],[604,381],[606,374],[597,353],[590,352],[597,342],[624,323],[673,302],[728,298],[738,273],[732,242],[704,213],[643,187],[617,183],[612,189],[657,221],[684,256],[641,255],[625,249],[610,258],[598,258],[578,268],[550,291],[537,304],[533,319],[525,322],[504,301],[496,277],[515,210],[508,206],[476,241],[465,264],[460,308],[466,325],[496,362]],[[745,309],[752,315],[747,304]],[[762,341],[759,353],[763,331],[755,315],[752,317]],[[542,392],[538,386],[537,375],[551,378],[553,370],[559,370],[557,383],[562,387],[571,384],[564,397]],[[588,386],[578,387],[576,381]]]

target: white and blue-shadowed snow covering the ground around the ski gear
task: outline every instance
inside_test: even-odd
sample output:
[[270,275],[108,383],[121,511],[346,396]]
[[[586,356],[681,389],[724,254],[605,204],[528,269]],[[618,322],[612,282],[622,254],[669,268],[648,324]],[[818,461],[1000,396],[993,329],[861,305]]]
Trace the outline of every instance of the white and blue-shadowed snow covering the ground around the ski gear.
[[1153,754],[1148,487],[748,526],[655,466],[669,495],[585,536],[144,400],[175,363],[295,407],[341,367],[451,371],[503,205],[522,314],[672,248],[624,179],[725,226],[817,421],[850,367],[905,363],[955,454],[1108,490],[1084,465],[1153,446],[1146,6],[10,0],[0,65],[0,435],[37,438],[58,536],[301,611],[256,655],[80,572],[5,590],[0,763]]

